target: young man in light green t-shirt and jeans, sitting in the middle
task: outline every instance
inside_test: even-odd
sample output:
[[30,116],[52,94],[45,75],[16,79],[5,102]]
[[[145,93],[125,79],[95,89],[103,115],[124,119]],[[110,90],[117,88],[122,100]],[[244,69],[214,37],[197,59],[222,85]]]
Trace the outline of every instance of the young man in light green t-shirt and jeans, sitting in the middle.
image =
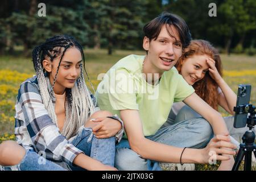
[[[201,100],[174,67],[191,40],[187,24],[177,15],[163,13],[144,26],[144,34],[146,56],[119,60],[96,92],[100,108],[119,115],[125,126],[125,136],[116,147],[115,166],[159,170],[158,162],[208,163],[209,154],[214,153],[217,160],[225,161],[221,168],[230,169],[236,146],[230,143],[221,114]],[[172,104],[179,101],[208,122],[196,118],[160,129]],[[213,133],[216,137],[211,139]]]

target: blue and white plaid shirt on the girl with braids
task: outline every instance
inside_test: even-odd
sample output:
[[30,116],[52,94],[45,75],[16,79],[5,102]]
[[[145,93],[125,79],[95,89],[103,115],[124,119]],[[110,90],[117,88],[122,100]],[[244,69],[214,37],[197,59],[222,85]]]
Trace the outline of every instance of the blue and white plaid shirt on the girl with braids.
[[[48,81],[48,90],[50,88]],[[95,104],[96,99],[93,94],[91,97]],[[55,105],[55,97],[52,96],[51,99]],[[36,76],[20,85],[15,110],[15,136],[23,147],[33,149],[44,158],[61,166],[65,166],[61,164],[63,162],[72,166],[76,156],[84,153],[71,144],[71,139],[67,140],[61,135],[59,128],[52,122],[43,104]],[[118,117],[114,118],[122,123],[122,129],[115,136],[119,142],[123,135],[123,122]]]

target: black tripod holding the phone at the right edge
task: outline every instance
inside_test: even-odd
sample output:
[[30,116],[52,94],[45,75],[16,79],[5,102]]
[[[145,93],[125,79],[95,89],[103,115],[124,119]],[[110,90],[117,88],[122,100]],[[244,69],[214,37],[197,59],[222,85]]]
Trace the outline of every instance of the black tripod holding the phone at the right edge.
[[241,108],[241,106],[238,106],[236,109],[245,110],[246,113],[250,113],[250,115],[247,118],[247,127],[249,127],[249,130],[243,134],[242,140],[243,143],[240,144],[240,149],[238,150],[238,154],[234,163],[234,166],[232,168],[232,171],[238,171],[238,168],[240,167],[241,161],[243,159],[243,156],[245,156],[245,164],[243,167],[244,171],[251,171],[251,153],[254,152],[254,156],[256,158],[256,145],[254,144],[255,141],[255,134],[251,130],[254,128],[254,125],[256,125],[256,117],[255,117],[255,107],[251,104],[242,106],[244,108]]

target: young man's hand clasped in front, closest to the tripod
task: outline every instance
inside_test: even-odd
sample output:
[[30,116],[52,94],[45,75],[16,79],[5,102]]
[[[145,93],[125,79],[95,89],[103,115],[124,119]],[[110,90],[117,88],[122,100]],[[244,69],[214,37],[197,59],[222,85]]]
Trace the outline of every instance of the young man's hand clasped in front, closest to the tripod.
[[212,159],[229,160],[229,155],[236,155],[236,152],[233,151],[235,148],[237,146],[230,142],[228,133],[218,134],[210,140],[207,147],[203,148],[202,163],[207,164]]

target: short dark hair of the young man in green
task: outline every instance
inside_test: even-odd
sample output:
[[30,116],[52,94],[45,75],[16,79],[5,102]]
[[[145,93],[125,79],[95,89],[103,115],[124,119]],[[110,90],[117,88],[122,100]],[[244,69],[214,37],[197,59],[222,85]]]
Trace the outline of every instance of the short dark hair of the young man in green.
[[185,23],[184,19],[180,16],[163,12],[162,14],[158,15],[155,19],[152,19],[150,22],[145,24],[143,27],[144,35],[152,40],[156,40],[158,35],[160,34],[161,28],[166,26],[166,30],[168,34],[174,37],[174,34],[170,33],[170,30],[167,26],[174,26],[179,34],[179,38],[182,44],[182,47],[185,48],[189,45],[191,41],[191,33],[189,32],[189,28]]

